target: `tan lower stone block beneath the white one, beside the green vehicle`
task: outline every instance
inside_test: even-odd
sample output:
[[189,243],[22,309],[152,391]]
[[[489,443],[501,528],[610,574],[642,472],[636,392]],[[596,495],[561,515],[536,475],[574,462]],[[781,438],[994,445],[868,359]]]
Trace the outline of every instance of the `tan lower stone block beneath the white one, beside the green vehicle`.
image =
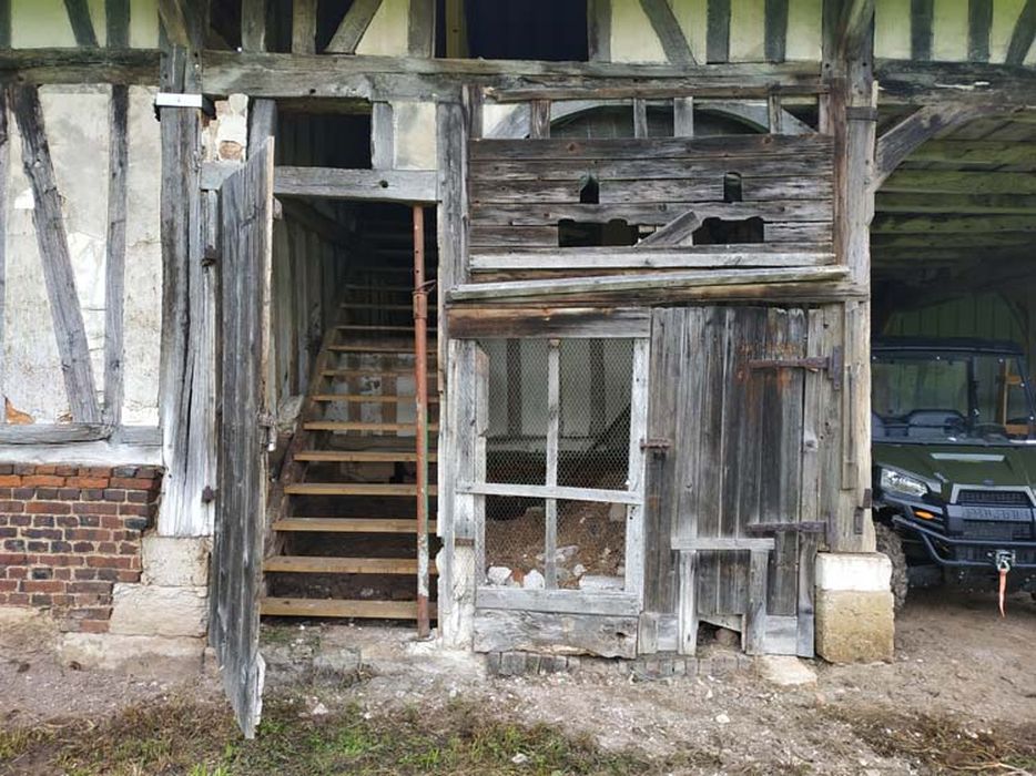
[[816,653],[831,663],[891,661],[895,626],[888,590],[817,590]]

